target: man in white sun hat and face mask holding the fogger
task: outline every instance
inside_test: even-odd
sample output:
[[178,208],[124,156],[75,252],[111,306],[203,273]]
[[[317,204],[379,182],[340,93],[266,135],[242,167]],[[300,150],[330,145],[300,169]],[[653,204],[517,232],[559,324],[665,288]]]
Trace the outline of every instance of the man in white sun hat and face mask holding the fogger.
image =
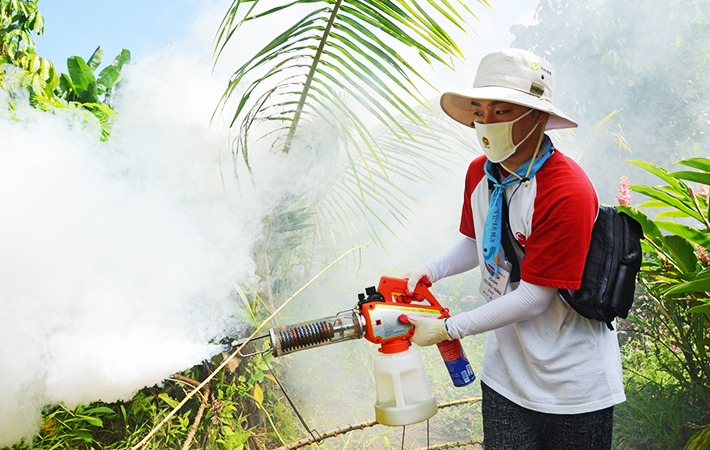
[[[446,321],[410,320],[421,346],[489,332],[480,372],[486,450],[609,449],[613,405],[625,400],[616,333],[557,293],[580,287],[599,205],[586,174],[544,134],[577,126],[552,103],[554,76],[530,52],[495,51],[473,89],[442,95],[444,112],[476,129],[485,156],[466,175],[464,238],[405,274],[413,291],[481,267],[487,304]],[[506,215],[512,245],[524,247],[519,282],[502,250]]]

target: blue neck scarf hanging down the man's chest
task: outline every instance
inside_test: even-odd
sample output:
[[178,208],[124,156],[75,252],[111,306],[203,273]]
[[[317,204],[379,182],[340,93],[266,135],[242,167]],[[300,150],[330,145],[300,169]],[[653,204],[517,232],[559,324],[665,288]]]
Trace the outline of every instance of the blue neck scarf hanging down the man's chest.
[[542,167],[545,161],[552,155],[553,151],[552,142],[550,142],[549,138],[545,137],[534,160],[530,160],[518,167],[515,173],[510,174],[500,183],[495,177],[495,166],[490,161],[486,161],[485,172],[488,179],[493,183],[493,192],[491,193],[486,224],[483,228],[483,259],[491,278],[498,273],[498,261],[501,255],[500,238],[501,233],[505,232],[503,231],[502,217],[503,193],[505,192],[505,188],[515,183],[526,181],[525,176],[528,173],[530,164],[532,164],[532,168],[530,169],[528,179],[534,177],[540,167]]

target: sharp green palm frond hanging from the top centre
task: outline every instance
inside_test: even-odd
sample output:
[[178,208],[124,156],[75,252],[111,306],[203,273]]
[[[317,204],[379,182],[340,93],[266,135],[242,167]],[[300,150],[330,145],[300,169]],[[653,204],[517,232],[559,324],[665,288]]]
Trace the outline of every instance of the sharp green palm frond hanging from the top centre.
[[[234,0],[216,37],[219,58],[245,23],[300,12],[293,25],[234,72],[215,111],[224,111],[227,101],[240,93],[231,119],[231,126],[239,126],[235,155],[241,153],[248,166],[250,144],[274,129],[273,146],[287,152],[301,121],[317,121],[351,130],[346,145],[360,142],[357,159],[370,171],[370,181],[369,164],[383,174],[388,166],[386,152],[368,131],[372,121],[400,141],[414,139],[412,130],[427,128],[412,105],[426,107],[417,84],[428,81],[401,49],[412,48],[427,63],[450,67],[462,55],[444,25],[465,30],[464,17],[475,18],[460,1],[294,0],[268,5],[264,9],[259,0]],[[338,101],[341,93],[355,104]],[[326,104],[327,114],[317,111]]]

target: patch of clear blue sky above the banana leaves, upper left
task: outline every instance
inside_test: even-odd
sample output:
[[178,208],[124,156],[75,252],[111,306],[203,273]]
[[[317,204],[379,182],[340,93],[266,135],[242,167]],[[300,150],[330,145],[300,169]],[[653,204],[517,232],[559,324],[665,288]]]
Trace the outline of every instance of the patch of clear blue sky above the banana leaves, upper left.
[[180,42],[209,0],[39,0],[45,34],[37,37],[37,54],[66,72],[70,56],[88,59],[100,45],[110,63],[122,48],[135,61]]

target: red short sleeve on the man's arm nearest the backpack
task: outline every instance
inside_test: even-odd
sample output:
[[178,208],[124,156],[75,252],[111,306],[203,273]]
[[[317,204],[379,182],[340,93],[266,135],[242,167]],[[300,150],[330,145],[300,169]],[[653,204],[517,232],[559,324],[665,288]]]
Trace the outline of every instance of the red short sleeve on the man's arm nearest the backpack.
[[559,152],[535,177],[535,210],[521,278],[540,286],[579,289],[599,210],[596,191],[584,171]]

